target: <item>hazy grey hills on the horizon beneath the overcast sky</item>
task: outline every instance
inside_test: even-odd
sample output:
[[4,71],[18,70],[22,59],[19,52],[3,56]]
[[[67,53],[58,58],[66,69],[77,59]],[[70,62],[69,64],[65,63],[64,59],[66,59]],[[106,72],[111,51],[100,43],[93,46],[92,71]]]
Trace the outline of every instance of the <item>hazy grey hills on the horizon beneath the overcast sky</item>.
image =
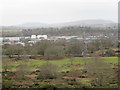
[[80,20],[73,22],[65,23],[55,23],[55,24],[46,24],[46,23],[24,23],[21,25],[14,26],[2,26],[3,30],[14,30],[14,29],[32,29],[32,28],[49,28],[49,27],[65,27],[65,26],[116,26],[117,23],[114,23],[109,20],[102,19],[91,19],[91,20]]

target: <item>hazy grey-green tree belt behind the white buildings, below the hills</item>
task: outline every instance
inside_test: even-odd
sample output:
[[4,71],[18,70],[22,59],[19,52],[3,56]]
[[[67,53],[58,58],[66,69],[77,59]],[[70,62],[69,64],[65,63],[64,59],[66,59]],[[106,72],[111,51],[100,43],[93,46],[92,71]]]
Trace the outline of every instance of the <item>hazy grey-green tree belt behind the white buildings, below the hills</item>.
[[22,31],[24,36],[30,36],[32,34],[46,34],[49,36],[59,36],[59,35],[83,35],[85,32],[88,35],[101,33],[104,35],[109,35],[111,33],[117,34],[117,28],[102,28],[102,27],[81,27],[81,26],[69,26],[62,28],[36,28],[36,29],[25,29]]

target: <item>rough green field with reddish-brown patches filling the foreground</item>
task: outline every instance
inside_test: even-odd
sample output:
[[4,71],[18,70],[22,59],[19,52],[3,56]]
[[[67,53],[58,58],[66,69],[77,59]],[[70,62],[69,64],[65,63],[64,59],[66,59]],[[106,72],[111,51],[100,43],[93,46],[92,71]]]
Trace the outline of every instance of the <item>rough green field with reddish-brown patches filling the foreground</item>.
[[[86,73],[86,67],[85,67],[86,63],[94,59],[95,57],[71,57],[71,58],[63,58],[60,60],[38,60],[38,59],[15,60],[14,58],[5,58],[3,59],[4,62],[3,87],[5,88],[11,88],[11,87],[12,88],[14,87],[15,88],[31,88],[31,87],[32,88],[54,88],[54,87],[55,88],[83,88],[83,87],[94,88],[95,86],[93,86],[91,82],[93,78],[95,79],[95,77],[90,77]],[[99,60],[103,60],[106,63],[111,64],[110,67],[112,68],[117,68],[118,57],[101,57],[99,58]],[[47,69],[46,68],[47,66],[51,71],[51,75],[52,73],[54,73],[56,67],[51,68],[48,64],[47,66],[45,66],[46,62],[50,62],[51,64],[59,67],[57,71],[57,73],[59,73],[57,78],[51,79],[49,75],[47,76],[47,78],[44,77],[41,78],[41,76],[39,76],[42,74],[47,75],[45,74],[47,72],[42,72]],[[19,65],[23,65],[23,66],[19,67]],[[40,68],[41,66],[43,70]],[[102,68],[105,69],[105,67]],[[4,71],[5,69],[6,71]],[[28,70],[29,73],[26,72],[26,70]],[[97,72],[99,73],[98,70]],[[104,75],[107,75],[107,77],[109,77],[109,74],[110,74],[109,70],[104,72]],[[106,77],[104,75],[103,77]],[[108,78],[104,78],[104,79],[107,80]],[[100,83],[104,83],[104,79],[103,81],[100,81]],[[112,82],[112,84],[110,83],[109,87],[116,88],[117,87],[116,83],[117,83],[116,81]],[[106,84],[105,85],[103,84],[103,86],[106,87]]]

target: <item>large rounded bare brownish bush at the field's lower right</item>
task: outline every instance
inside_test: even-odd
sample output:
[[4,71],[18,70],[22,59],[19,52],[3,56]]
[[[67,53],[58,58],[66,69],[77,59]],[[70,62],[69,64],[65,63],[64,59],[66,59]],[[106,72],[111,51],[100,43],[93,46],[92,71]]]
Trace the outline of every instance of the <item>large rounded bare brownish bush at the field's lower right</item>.
[[96,57],[89,60],[86,63],[87,75],[92,78],[91,84],[97,87],[107,87],[113,77],[115,77],[115,72],[111,65],[102,58]]

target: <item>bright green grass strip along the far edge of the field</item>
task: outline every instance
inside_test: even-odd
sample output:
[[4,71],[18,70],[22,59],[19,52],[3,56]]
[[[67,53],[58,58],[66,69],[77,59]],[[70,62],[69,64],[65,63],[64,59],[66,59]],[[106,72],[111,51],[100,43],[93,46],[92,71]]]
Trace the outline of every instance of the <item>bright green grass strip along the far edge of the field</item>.
[[[60,72],[62,71],[69,71],[70,69],[82,69],[84,68],[84,63],[87,62],[87,60],[92,60],[93,57],[74,57],[72,58],[73,64],[71,65],[71,61],[69,58],[64,58],[61,60],[50,60],[51,63],[57,65],[60,67]],[[118,58],[117,57],[102,57],[103,60],[105,60],[108,63],[117,64]],[[26,61],[26,64],[30,67],[30,70],[38,70],[39,67],[44,64],[45,60],[37,60],[37,59],[29,59]],[[22,60],[19,61],[13,61],[9,62],[9,70],[16,70],[17,66],[19,64],[25,63]],[[79,65],[77,65],[79,64]],[[77,65],[77,66],[76,66]]]

